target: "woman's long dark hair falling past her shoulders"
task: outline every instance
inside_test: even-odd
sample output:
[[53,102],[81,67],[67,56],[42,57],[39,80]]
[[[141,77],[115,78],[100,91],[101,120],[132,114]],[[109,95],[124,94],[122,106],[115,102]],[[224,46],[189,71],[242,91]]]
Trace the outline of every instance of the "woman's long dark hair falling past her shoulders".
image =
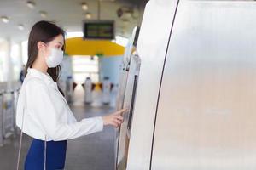
[[[61,27],[56,26],[55,23],[49,22],[46,20],[38,21],[32,30],[30,31],[28,38],[28,50],[27,50],[27,62],[25,67],[25,75],[27,74],[27,69],[32,67],[33,62],[37,59],[38,56],[38,42],[51,42],[55,37],[62,35],[64,37],[64,45],[62,50],[65,51],[65,34],[66,32],[61,29]],[[61,65],[57,65],[55,68],[48,68],[47,72],[49,76],[55,82],[58,82],[59,77],[61,77]],[[64,96],[61,88],[58,86],[59,91]]]

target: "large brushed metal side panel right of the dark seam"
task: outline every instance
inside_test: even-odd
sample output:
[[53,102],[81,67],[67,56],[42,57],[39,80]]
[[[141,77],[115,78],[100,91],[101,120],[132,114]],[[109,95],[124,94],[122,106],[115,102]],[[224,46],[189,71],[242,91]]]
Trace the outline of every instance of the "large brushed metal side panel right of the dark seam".
[[256,169],[255,20],[255,2],[181,1],[151,169]]

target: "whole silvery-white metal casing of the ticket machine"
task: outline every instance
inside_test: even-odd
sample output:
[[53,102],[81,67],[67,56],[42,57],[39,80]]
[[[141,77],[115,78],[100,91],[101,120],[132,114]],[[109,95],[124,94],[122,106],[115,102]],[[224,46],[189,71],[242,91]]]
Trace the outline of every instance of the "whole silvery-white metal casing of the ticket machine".
[[253,1],[148,2],[125,169],[256,169],[255,20]]

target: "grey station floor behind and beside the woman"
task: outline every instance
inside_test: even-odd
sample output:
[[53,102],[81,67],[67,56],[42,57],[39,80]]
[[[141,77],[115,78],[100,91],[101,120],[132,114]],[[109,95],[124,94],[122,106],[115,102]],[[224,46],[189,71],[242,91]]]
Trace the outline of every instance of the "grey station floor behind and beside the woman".
[[[91,116],[104,116],[114,111],[113,106],[84,105],[81,91],[76,93],[75,102],[70,104],[70,108],[78,120]],[[113,170],[114,133],[113,127],[104,127],[100,133],[68,140],[65,170]],[[19,136],[9,137],[3,147],[0,147],[0,170],[16,169],[19,139]],[[31,141],[30,137],[24,136],[20,169],[23,169]]]

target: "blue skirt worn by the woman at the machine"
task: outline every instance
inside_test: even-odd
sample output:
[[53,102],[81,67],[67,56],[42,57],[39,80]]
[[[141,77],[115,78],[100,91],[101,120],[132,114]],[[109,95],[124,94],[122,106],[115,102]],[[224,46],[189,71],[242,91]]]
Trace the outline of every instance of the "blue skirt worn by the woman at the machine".
[[[46,170],[64,169],[67,140],[48,141],[46,145]],[[25,170],[44,170],[44,140],[33,139],[26,155]]]

